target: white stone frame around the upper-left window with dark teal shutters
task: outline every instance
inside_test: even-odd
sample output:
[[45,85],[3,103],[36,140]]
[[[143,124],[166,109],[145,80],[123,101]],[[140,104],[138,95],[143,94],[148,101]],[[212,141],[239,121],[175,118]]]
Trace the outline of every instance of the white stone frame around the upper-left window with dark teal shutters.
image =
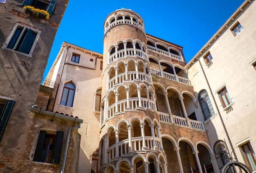
[[[7,46],[9,45],[9,43],[10,43],[10,41],[11,41],[11,39],[12,39],[12,36],[14,35],[14,33],[15,33],[16,29],[18,28],[18,26],[30,28],[32,31],[34,31],[34,32],[37,33],[37,36],[35,37],[35,41],[34,41],[32,47],[31,47],[31,50],[30,50],[29,54],[22,53],[22,52],[19,52],[19,51],[17,51],[17,50],[13,50],[13,49],[7,48]],[[10,32],[9,36],[7,37],[7,39],[5,40],[4,45],[2,46],[2,49],[4,49],[4,50],[9,50],[9,51],[12,51],[12,52],[14,52],[14,53],[21,54],[21,55],[25,55],[25,56],[27,56],[27,57],[32,57],[32,56],[33,56],[33,51],[34,51],[34,49],[35,49],[35,45],[37,44],[37,41],[38,41],[38,39],[39,39],[40,34],[41,34],[41,31],[39,31],[39,30],[37,30],[37,29],[35,29],[35,28],[31,28],[31,27],[25,26],[25,25],[20,24],[20,23],[15,23],[15,26],[14,26],[14,28],[12,29],[12,31]]]

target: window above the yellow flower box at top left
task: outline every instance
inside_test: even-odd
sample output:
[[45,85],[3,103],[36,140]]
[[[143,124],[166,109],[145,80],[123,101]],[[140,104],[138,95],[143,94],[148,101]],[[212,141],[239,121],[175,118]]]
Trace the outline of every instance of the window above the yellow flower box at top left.
[[52,17],[55,11],[56,2],[53,0],[24,0],[22,5],[30,5],[37,9],[43,9],[49,13],[50,17]]

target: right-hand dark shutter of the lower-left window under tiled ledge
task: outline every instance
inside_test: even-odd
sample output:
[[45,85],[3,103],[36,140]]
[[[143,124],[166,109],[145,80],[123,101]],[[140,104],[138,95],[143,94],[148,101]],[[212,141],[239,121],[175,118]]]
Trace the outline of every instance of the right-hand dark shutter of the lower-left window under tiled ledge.
[[53,153],[52,153],[52,163],[53,164],[60,163],[63,136],[64,136],[63,131],[57,131],[55,142],[54,142],[54,147],[53,147]]

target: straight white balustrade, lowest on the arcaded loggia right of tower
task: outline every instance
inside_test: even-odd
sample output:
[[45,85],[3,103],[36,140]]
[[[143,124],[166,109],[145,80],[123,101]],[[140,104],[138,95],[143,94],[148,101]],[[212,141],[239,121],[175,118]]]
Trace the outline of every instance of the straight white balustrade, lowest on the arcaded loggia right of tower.
[[169,115],[163,112],[158,112],[159,119],[162,122],[172,123],[179,126],[191,127],[197,130],[205,130],[204,123],[196,120],[186,119],[176,115]]

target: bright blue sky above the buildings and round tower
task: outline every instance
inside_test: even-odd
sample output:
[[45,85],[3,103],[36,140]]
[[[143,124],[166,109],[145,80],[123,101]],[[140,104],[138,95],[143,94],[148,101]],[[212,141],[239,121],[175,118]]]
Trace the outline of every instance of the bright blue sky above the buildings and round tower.
[[244,0],[69,0],[57,31],[44,77],[63,41],[103,52],[103,22],[112,11],[132,9],[147,34],[183,47],[188,62]]

